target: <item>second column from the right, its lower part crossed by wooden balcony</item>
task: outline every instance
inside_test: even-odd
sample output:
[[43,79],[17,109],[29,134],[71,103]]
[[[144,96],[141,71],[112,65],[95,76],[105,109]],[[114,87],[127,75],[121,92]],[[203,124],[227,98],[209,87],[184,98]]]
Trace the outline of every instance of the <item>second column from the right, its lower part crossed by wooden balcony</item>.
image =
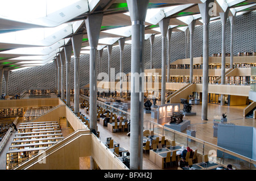
[[[222,49],[221,49],[221,84],[225,84],[225,70],[226,70],[226,19],[228,18],[227,9],[226,12],[220,12],[221,24],[222,24]],[[225,104],[225,96],[221,94],[221,106]]]

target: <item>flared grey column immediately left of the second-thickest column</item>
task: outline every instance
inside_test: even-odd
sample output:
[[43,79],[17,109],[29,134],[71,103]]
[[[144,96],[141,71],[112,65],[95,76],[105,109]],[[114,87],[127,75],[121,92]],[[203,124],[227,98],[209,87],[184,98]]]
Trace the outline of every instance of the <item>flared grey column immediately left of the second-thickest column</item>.
[[76,34],[72,36],[72,47],[75,56],[74,61],[74,112],[79,112],[79,91],[80,91],[80,82],[79,82],[79,62],[80,62],[80,50],[82,45],[82,36],[83,34]]

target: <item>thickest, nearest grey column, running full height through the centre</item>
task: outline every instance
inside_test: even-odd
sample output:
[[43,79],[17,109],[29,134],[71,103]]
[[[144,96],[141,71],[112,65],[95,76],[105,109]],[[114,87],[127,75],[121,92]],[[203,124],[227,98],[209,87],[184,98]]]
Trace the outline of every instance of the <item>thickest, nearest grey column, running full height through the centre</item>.
[[[143,159],[143,104],[144,77],[144,31],[149,0],[127,0],[131,18],[131,132],[130,132],[130,169],[142,170]],[[135,91],[137,89],[138,91]]]

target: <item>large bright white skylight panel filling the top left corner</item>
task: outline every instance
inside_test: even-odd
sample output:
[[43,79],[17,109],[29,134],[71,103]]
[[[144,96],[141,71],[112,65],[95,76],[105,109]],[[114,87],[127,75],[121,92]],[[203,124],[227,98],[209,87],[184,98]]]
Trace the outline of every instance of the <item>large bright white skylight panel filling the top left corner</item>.
[[88,11],[87,0],[8,0],[1,1],[0,18],[55,27]]

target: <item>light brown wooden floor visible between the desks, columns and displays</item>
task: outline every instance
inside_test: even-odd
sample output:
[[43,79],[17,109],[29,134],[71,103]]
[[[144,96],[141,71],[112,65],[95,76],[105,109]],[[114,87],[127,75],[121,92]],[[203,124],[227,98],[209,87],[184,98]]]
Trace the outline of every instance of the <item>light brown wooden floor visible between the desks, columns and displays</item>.
[[[71,106],[73,103],[71,104]],[[182,107],[182,105],[181,105]],[[250,119],[243,117],[243,109],[245,106],[220,106],[219,104],[208,104],[208,121],[201,120],[201,104],[192,105],[192,112],[196,112],[196,116],[185,116],[184,119],[190,120],[191,125],[196,125],[196,138],[200,140],[207,141],[211,144],[217,145],[217,138],[213,137],[213,119],[214,117],[221,116],[222,113],[226,113],[227,119],[229,123],[234,123],[236,125],[243,125],[249,127],[255,127],[255,119]],[[81,113],[88,116],[84,112],[84,109],[80,109]],[[144,113],[144,121],[150,120],[157,123],[156,119],[151,118],[150,113]],[[108,131],[107,127],[103,127],[100,124],[97,124],[98,131],[100,131],[100,139],[105,140],[106,137],[112,137],[115,141],[120,143],[120,146],[130,150],[130,137],[126,135],[127,132],[116,132],[112,133]],[[186,133],[186,130],[183,131]],[[87,160],[88,161],[88,160]],[[89,164],[89,162],[84,162],[84,164]],[[89,167],[89,166],[81,166],[82,167]],[[144,170],[161,170],[160,167],[156,166],[149,160],[149,153],[143,153],[143,169]],[[177,167],[167,166],[166,169],[174,169],[176,170]]]

